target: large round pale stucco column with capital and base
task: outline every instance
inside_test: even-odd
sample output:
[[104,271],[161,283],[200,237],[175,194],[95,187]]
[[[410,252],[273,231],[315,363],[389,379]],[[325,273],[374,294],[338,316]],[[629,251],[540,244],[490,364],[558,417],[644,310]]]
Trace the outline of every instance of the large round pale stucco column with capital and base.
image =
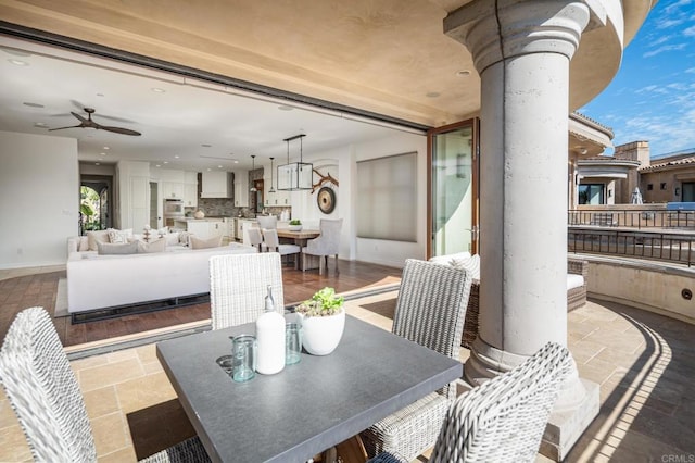
[[[567,345],[569,62],[589,20],[579,0],[473,0],[444,21],[481,77],[479,337],[465,367],[472,384],[547,341]],[[595,386],[574,370],[543,453],[565,458],[598,412]]]

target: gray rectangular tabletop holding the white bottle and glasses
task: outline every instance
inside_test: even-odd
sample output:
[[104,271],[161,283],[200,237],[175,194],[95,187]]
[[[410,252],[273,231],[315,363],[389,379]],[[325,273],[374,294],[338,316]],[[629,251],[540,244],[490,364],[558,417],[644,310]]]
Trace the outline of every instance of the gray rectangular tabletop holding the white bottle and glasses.
[[215,363],[255,325],[157,343],[157,358],[213,461],[304,462],[460,377],[460,362],[352,316],[338,348],[235,383]]

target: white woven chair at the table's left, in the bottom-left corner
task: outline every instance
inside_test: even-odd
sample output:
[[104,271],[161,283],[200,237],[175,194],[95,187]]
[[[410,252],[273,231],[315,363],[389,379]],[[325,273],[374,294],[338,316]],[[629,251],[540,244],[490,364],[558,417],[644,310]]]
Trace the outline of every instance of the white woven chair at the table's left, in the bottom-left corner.
[[[35,461],[96,462],[91,425],[75,373],[43,308],[20,312],[0,350],[0,383]],[[193,437],[143,462],[208,462]]]

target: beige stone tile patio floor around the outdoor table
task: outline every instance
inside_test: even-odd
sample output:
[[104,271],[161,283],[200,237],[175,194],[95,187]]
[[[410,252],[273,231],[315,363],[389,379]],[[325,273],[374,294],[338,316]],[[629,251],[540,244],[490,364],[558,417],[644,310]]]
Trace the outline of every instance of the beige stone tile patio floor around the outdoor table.
[[[352,301],[349,313],[391,327],[395,292]],[[695,326],[590,300],[568,315],[580,376],[601,385],[601,413],[571,462],[695,461]],[[468,351],[462,349],[462,361]],[[72,362],[85,393],[101,462],[146,456],[193,434],[155,356],[154,345]],[[30,461],[0,396],[0,461]],[[539,462],[547,461],[538,458]]]

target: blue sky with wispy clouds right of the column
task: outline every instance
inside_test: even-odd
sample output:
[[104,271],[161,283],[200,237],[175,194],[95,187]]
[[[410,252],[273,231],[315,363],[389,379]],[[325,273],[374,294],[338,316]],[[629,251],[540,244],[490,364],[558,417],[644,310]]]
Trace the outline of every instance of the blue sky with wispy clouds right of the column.
[[612,128],[614,145],[695,150],[695,0],[659,0],[612,82],[578,112]]

